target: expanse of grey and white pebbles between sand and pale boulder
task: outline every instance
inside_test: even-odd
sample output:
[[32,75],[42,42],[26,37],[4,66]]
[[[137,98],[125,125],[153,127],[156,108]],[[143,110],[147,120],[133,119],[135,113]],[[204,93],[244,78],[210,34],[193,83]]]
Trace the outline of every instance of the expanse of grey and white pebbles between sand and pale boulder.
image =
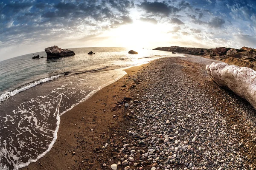
[[163,58],[130,77],[137,85],[130,107],[134,118],[118,149],[125,169],[256,168],[255,110],[208,78],[205,65],[211,62]]

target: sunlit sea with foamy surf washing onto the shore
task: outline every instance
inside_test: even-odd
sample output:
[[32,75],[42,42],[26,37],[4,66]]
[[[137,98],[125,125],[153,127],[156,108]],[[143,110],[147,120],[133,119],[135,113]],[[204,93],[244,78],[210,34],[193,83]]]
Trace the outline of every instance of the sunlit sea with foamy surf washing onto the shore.
[[[61,115],[120,79],[124,68],[167,51],[71,48],[76,55],[47,59],[45,51],[0,62],[0,170],[17,170],[43,157],[57,139]],[[93,51],[95,54],[89,55]],[[40,55],[40,59],[32,59]]]

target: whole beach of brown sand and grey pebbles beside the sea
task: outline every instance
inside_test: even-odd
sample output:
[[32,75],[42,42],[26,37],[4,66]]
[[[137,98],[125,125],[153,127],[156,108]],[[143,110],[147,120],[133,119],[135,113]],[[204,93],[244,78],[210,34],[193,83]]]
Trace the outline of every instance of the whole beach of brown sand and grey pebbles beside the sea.
[[52,149],[22,169],[255,169],[255,110],[208,77],[212,62],[187,55],[126,69],[64,113]]

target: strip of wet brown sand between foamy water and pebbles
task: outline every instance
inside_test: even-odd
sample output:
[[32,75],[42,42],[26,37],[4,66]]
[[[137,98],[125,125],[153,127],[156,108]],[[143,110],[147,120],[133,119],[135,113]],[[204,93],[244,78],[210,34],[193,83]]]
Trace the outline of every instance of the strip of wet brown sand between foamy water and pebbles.
[[23,170],[102,169],[102,162],[108,162],[109,160],[105,159],[110,157],[105,154],[114,152],[111,151],[113,147],[102,150],[102,146],[106,142],[115,142],[110,136],[115,136],[117,131],[119,137],[122,132],[127,134],[122,131],[125,119],[128,119],[123,115],[123,98],[133,97],[130,90],[134,81],[129,77],[140,71],[143,66],[126,69],[127,74],[124,77],[64,113],[61,116],[58,139],[52,149]]

